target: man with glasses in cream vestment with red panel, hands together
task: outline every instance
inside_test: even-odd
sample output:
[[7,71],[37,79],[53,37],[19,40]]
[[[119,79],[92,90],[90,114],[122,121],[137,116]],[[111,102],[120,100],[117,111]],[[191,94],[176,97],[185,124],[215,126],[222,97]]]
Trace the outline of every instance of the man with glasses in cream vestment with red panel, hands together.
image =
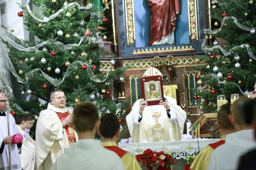
[[66,97],[62,90],[51,93],[51,103],[41,111],[35,131],[37,169],[50,169],[56,159],[64,154],[65,148],[77,138],[72,129],[72,109],[66,107]]

